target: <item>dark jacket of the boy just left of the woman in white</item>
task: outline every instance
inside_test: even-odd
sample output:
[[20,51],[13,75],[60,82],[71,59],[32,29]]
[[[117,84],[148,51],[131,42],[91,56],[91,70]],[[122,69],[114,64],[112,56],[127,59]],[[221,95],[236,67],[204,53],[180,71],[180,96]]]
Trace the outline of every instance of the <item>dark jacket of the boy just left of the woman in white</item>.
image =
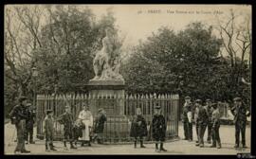
[[73,130],[73,116],[69,113],[64,113],[63,115],[60,115],[57,119],[61,124],[64,124],[64,133],[71,133]]

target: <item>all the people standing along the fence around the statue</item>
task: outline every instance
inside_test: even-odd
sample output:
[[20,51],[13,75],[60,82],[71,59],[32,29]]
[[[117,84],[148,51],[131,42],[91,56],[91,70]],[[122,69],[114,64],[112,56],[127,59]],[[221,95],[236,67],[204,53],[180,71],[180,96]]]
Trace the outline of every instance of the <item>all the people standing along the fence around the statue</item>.
[[[241,97],[233,99],[233,107],[230,108],[234,115],[235,124],[235,148],[240,145],[240,132],[242,134],[242,146],[246,146],[246,125],[247,116],[250,115],[249,109],[242,102]],[[155,114],[151,122],[152,136],[155,140],[155,151],[167,151],[163,144],[166,135],[166,121],[161,114],[161,106],[157,103],[155,105]],[[25,143],[33,141],[33,124],[35,123],[35,109],[30,103],[27,103],[27,97],[20,97],[19,104],[15,106],[10,114],[11,123],[15,125],[17,130],[17,146],[14,153],[29,153],[25,149]],[[105,111],[101,108],[98,110],[98,115],[94,117],[89,110],[89,106],[82,104],[82,111],[77,119],[74,119],[71,114],[70,106],[64,107],[64,114],[53,117],[52,110],[46,110],[46,117],[44,120],[44,133],[46,137],[46,151],[56,150],[53,145],[54,123],[57,121],[64,125],[64,149],[67,150],[66,142],[70,143],[70,149],[77,149],[78,140],[82,141],[81,146],[88,144],[91,146],[91,141],[97,139],[98,144],[102,144],[102,133],[104,130],[104,123],[107,117]],[[195,132],[197,136],[196,146],[204,147],[204,134],[208,128],[208,143],[211,143],[211,148],[221,148],[221,139],[219,135],[220,129],[220,112],[216,103],[211,103],[210,99],[206,100],[206,106],[202,105],[201,99],[196,99],[194,104],[191,97],[185,97],[185,103],[182,111],[182,121],[184,126],[185,140],[192,142],[192,124],[195,124]],[[136,115],[134,115],[130,130],[130,136],[134,137],[134,148],[137,148],[137,142],[140,143],[140,148],[146,148],[143,145],[143,137],[147,136],[147,122],[142,115],[141,109],[137,108]],[[29,138],[28,138],[29,135]],[[159,146],[159,147],[158,147]]]

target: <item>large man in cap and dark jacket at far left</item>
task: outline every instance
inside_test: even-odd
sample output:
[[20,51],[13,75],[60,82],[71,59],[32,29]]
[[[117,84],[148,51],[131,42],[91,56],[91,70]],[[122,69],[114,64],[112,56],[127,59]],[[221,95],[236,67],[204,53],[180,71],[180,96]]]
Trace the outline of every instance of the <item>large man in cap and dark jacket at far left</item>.
[[16,105],[9,116],[14,119],[14,124],[17,130],[17,146],[14,150],[15,154],[18,153],[29,153],[29,150],[25,149],[25,131],[26,131],[26,120],[27,115],[27,97],[20,97],[19,104]]

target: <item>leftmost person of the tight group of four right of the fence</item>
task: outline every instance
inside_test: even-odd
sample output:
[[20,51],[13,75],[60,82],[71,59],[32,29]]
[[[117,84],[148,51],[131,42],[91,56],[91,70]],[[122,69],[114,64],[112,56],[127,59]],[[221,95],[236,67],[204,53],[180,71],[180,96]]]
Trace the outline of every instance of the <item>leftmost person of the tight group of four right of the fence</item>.
[[185,140],[192,141],[192,102],[191,97],[185,97],[183,106],[183,129]]

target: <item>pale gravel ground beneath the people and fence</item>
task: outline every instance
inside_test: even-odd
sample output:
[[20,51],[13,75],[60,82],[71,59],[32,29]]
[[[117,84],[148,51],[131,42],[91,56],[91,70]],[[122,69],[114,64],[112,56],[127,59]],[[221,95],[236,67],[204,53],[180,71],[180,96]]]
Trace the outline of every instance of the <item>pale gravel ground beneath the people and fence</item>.
[[[5,154],[13,154],[16,143],[13,141],[16,132],[15,127],[10,123],[5,125]],[[207,132],[206,132],[207,134]],[[182,123],[179,124],[179,136],[183,138]],[[92,147],[78,147],[77,150],[64,150],[62,142],[54,142],[57,151],[46,151],[45,141],[35,139],[36,144],[26,145],[27,150],[31,150],[30,154],[236,154],[250,151],[250,126],[247,126],[247,147],[248,149],[234,149],[234,126],[223,125],[220,128],[220,137],[222,149],[210,148],[210,144],[205,144],[205,148],[195,147],[195,142],[186,140],[175,140],[165,143],[164,147],[167,152],[155,152],[154,144],[145,144],[146,149],[134,149],[133,145],[98,145],[92,144]],[[207,135],[205,135],[205,139]],[[195,139],[195,130],[193,127],[193,139]],[[67,145],[68,146],[68,145]]]

